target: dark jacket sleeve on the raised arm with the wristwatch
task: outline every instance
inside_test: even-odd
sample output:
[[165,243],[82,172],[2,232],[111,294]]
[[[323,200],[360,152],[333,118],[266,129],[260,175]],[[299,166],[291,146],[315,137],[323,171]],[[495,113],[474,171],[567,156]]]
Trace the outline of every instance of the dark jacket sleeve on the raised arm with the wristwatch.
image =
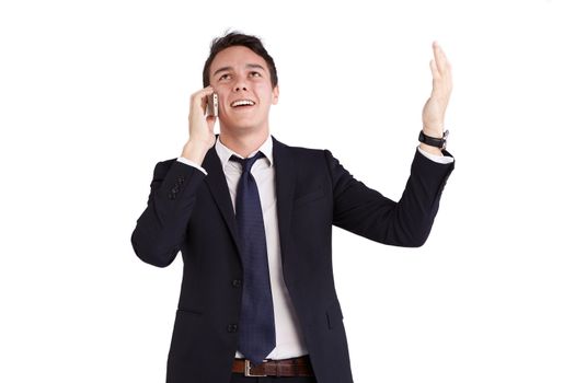
[[388,245],[425,243],[455,162],[439,164],[416,151],[403,195],[395,202],[355,179],[329,151],[325,158],[332,177],[333,224]]

